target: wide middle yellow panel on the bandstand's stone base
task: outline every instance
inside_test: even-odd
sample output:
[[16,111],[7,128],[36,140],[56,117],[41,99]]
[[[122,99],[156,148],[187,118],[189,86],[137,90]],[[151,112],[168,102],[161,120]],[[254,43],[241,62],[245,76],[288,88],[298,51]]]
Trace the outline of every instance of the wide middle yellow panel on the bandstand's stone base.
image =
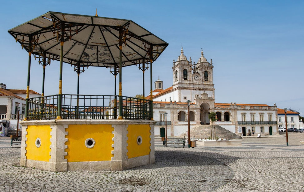
[[[66,131],[68,132],[65,143],[67,162],[106,161],[113,157],[112,125],[69,125]],[[88,138],[95,140],[94,147],[86,147],[85,140]]]

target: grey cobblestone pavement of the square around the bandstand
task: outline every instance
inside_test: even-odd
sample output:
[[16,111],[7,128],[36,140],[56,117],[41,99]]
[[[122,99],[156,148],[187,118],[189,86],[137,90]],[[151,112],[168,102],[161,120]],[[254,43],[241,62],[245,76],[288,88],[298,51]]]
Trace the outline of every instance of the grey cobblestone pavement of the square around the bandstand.
[[[126,171],[48,172],[19,166],[0,138],[0,191],[304,191],[304,133],[244,138],[242,146],[165,148],[156,163]],[[169,145],[168,145],[169,146]]]

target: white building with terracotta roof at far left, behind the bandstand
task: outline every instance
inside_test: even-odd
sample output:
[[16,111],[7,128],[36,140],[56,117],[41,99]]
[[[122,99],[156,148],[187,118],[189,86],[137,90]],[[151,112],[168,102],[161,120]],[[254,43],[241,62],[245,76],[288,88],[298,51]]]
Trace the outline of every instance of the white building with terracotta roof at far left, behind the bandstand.
[[[33,90],[29,93],[30,98],[41,96]],[[3,127],[17,128],[18,107],[20,107],[19,120],[22,120],[25,112],[25,98],[25,89],[7,89],[5,84],[0,83],[0,123]],[[20,124],[19,127],[21,127]]]

